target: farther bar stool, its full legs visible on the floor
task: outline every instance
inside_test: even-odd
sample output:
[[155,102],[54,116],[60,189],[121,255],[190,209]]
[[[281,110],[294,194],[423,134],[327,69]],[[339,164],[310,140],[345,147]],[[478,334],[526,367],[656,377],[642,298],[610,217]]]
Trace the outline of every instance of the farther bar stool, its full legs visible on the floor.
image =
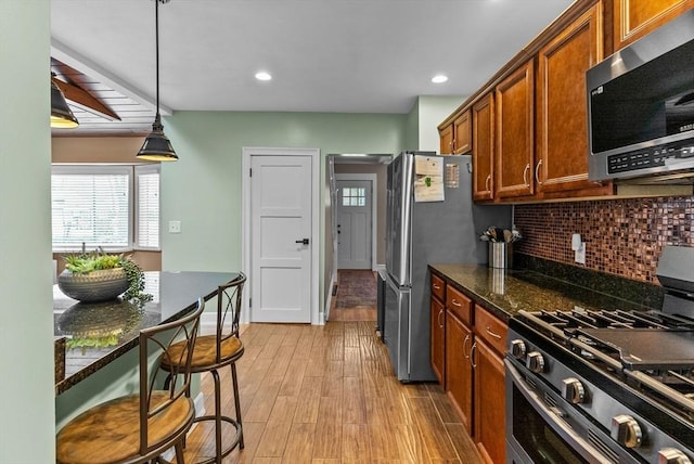
[[[193,359],[191,361],[192,373],[209,372],[215,382],[215,414],[207,414],[195,417],[195,422],[215,422],[215,457],[203,461],[203,463],[221,463],[221,460],[231,453],[236,446],[243,450],[243,427],[241,425],[241,403],[239,399],[239,381],[236,378],[236,361],[242,357],[244,347],[239,339],[239,317],[241,313],[241,296],[246,276],[243,272],[239,276],[217,288],[217,327],[215,335],[201,335],[195,341]],[[184,349],[183,345],[174,345],[171,350]],[[171,357],[172,360],[176,357]],[[221,385],[219,382],[219,370],[230,365],[231,381],[234,396],[236,417],[232,418],[221,412]],[[167,365],[163,363],[163,369],[180,369],[178,365]],[[168,383],[168,379],[167,379]],[[189,392],[190,395],[190,392]],[[233,440],[222,450],[221,423],[231,424],[236,434]]]

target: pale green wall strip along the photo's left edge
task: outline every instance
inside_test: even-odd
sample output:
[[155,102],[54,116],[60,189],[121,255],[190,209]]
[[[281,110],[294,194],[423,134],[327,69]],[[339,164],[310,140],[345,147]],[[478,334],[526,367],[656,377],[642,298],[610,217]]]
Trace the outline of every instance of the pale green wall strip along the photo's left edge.
[[50,2],[0,1],[0,463],[55,462]]

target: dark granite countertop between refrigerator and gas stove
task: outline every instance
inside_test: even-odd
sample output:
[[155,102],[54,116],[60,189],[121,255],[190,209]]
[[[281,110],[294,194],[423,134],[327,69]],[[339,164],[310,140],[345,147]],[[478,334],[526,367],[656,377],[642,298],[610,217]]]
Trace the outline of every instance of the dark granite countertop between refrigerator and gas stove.
[[519,310],[653,309],[531,270],[447,263],[429,265],[429,269],[503,320]]

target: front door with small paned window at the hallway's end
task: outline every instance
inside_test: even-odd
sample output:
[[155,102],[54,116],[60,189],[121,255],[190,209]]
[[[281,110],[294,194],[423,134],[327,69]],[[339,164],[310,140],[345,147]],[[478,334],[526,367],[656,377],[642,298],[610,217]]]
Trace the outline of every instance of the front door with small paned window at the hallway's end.
[[370,180],[337,180],[337,267],[371,269],[372,195]]

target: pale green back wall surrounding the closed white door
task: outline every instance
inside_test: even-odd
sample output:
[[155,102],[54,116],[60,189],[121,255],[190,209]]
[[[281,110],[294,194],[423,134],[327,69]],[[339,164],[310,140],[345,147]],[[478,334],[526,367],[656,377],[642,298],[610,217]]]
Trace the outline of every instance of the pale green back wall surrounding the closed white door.
[[[164,121],[179,162],[162,167],[162,269],[241,269],[244,146],[319,149],[322,205],[325,155],[397,153],[402,146],[404,118],[343,113],[176,112]],[[324,211],[322,207],[319,210],[319,246],[324,250]],[[182,233],[167,233],[169,220],[180,220]],[[321,252],[321,270],[323,256]],[[319,274],[319,295],[323,295],[322,271]]]

